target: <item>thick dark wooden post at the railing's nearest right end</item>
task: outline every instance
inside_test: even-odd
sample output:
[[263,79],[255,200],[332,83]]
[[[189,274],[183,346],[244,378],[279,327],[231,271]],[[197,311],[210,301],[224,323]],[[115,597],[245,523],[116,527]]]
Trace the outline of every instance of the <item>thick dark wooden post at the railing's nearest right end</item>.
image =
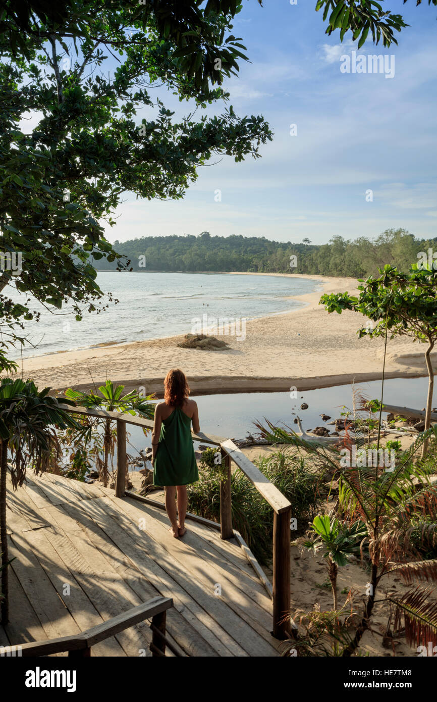
[[290,518],[291,507],[273,519],[273,635],[290,635]]

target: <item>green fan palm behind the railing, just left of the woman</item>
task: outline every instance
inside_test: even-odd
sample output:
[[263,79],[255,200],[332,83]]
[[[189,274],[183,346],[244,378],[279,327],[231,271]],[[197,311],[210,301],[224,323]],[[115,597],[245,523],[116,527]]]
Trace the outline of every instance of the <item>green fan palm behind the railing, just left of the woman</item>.
[[[112,380],[107,380],[105,385],[100,385],[98,392],[91,390],[91,392],[86,393],[69,388],[65,392],[65,397],[73,400],[79,406],[86,407],[86,409],[104,409],[109,412],[138,414],[146,419],[153,419],[155,406],[152,399],[154,395],[143,397],[138,390],[132,390],[123,395],[124,388],[124,385],[114,385]],[[75,448],[83,443],[91,446],[90,456],[94,459],[99,478],[106,487],[110,477],[109,458],[113,464],[116,446],[114,420],[83,415],[81,416],[81,424],[82,430],[79,434],[67,432],[65,439]],[[146,433],[148,430],[144,428],[143,431]],[[74,451],[74,457],[76,457],[76,451]]]

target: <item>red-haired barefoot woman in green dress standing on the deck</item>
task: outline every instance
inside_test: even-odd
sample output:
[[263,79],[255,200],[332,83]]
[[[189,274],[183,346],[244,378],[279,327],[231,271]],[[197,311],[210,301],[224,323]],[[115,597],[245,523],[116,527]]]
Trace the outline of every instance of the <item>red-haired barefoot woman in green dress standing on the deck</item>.
[[[199,433],[197,404],[189,399],[189,385],[179,369],[168,371],[164,380],[164,402],[155,408],[152,432],[154,484],[166,488],[166,510],[175,538],[183,536],[187,514],[186,485],[199,480],[191,439],[191,423]],[[175,498],[177,494],[177,521]]]

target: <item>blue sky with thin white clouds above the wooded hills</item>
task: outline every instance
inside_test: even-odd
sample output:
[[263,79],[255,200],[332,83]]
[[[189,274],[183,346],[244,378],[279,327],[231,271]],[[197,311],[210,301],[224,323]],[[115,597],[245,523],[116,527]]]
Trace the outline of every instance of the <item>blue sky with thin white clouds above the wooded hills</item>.
[[[237,114],[269,121],[274,141],[262,147],[262,159],[236,164],[224,157],[200,168],[183,201],[126,194],[116,226],[107,229],[110,241],[207,230],[322,244],[335,234],[375,237],[389,227],[437,236],[437,8],[384,0],[410,27],[397,35],[398,46],[367,41],[359,53],[393,55],[395,74],[387,79],[340,72],[340,56],[357,47],[347,37],[340,45],[338,32],[328,37],[315,5],[264,0],[261,8],[243,0],[234,24],[251,63],[225,87]],[[189,112],[187,103],[156,94],[176,116]],[[215,112],[222,112],[219,103]]]

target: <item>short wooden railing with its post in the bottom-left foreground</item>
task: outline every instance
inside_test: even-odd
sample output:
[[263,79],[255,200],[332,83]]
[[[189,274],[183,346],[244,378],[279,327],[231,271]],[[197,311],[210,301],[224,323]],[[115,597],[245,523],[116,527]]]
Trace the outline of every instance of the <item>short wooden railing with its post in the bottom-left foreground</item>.
[[88,658],[91,655],[91,647],[100,641],[109,639],[110,636],[119,634],[144,619],[152,618],[150,628],[152,629],[152,643],[150,650],[152,656],[160,657],[166,655],[166,645],[178,656],[179,653],[173,649],[173,644],[166,640],[166,611],[173,607],[173,600],[170,597],[154,597],[153,600],[138,604],[133,609],[123,612],[108,621],[104,621],[92,629],[83,631],[81,634],[63,636],[59,639],[49,639],[48,641],[35,641],[19,646],[5,646],[1,649],[2,656],[50,656],[53,654],[68,651],[69,656],[76,658]]

